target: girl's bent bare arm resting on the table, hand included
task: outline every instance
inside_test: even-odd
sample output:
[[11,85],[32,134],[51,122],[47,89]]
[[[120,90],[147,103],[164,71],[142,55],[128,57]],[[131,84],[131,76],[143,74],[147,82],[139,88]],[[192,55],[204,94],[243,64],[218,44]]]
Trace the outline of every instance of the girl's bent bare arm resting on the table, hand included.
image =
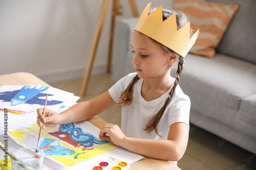
[[[106,136],[108,134],[109,136]],[[176,122],[170,126],[167,140],[126,137],[117,125],[106,124],[100,131],[100,139],[108,140],[122,148],[155,159],[178,161],[188,143],[188,125]]]

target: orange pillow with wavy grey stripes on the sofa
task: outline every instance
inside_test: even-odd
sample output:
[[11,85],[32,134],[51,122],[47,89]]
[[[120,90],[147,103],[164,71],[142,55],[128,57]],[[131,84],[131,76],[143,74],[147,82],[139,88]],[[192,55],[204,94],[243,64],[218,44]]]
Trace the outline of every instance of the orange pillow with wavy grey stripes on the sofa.
[[183,11],[189,17],[192,30],[200,31],[189,53],[213,58],[215,48],[237,11],[238,5],[176,0],[173,8]]

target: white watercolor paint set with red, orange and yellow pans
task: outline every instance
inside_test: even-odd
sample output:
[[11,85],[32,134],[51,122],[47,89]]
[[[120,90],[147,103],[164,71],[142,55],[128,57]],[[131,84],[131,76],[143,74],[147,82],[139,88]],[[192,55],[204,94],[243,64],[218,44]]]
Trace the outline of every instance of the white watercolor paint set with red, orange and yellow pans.
[[130,167],[129,163],[107,156],[94,166],[90,170],[126,170]]

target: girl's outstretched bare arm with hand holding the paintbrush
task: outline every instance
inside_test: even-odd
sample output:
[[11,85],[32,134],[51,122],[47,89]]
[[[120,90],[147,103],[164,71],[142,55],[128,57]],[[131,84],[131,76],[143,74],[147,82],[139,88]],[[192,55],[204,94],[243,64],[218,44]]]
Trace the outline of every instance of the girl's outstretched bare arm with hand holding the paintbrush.
[[[100,96],[97,96],[89,101],[79,102],[61,113],[46,109],[44,117],[45,119],[43,120],[44,125],[42,128],[44,129],[45,127],[54,127],[59,124],[88,120],[102,111],[114,106],[115,104],[116,102],[112,99],[109,92],[106,91]],[[39,127],[41,127],[43,110],[43,108],[37,109],[37,124]]]

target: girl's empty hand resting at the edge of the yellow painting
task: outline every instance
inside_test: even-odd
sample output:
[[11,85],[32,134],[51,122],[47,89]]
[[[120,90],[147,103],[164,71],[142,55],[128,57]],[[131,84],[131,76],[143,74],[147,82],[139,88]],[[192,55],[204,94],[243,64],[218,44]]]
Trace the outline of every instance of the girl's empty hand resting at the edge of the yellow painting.
[[[108,134],[109,136],[107,136]],[[120,146],[121,141],[126,138],[118,125],[106,123],[100,130],[100,139],[110,141],[114,145]]]

